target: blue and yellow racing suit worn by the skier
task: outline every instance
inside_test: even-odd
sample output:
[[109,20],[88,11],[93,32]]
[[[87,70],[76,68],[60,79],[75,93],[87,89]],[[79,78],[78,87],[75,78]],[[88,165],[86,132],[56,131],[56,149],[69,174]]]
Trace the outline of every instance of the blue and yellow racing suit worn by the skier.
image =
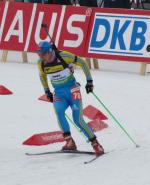
[[76,82],[72,68],[73,64],[80,66],[87,80],[92,80],[90,70],[86,62],[74,54],[62,51],[59,55],[63,60],[57,57],[52,62],[46,62],[43,59],[38,60],[41,83],[45,90],[49,89],[47,79],[49,78],[54,88],[53,104],[61,130],[64,133],[70,133],[70,126],[65,117],[65,111],[68,107],[71,107],[74,123],[88,140],[92,140],[95,135],[83,119],[80,86]]

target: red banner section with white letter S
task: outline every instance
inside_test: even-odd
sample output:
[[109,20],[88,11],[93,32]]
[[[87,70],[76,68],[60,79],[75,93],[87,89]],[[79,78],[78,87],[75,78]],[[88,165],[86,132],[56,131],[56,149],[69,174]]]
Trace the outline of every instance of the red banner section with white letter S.
[[83,56],[92,9],[83,7],[66,8],[59,39],[59,48]]

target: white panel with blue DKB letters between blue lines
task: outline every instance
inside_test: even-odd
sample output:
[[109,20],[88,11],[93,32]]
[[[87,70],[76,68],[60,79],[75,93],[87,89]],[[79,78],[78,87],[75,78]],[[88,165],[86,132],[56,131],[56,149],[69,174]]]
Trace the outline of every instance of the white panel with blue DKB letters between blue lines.
[[89,52],[143,55],[148,17],[96,14]]

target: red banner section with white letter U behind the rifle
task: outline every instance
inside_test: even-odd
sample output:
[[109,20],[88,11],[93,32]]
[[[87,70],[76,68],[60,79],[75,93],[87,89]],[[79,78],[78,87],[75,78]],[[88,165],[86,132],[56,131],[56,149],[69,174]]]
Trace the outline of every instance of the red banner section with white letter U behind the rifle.
[[62,6],[49,6],[38,4],[35,6],[34,22],[32,26],[32,32],[30,35],[29,43],[26,42],[24,48],[25,51],[35,51],[37,44],[41,40],[50,41],[50,38],[45,33],[44,29],[41,28],[41,24],[47,24],[49,34],[52,40],[56,42],[56,37],[58,34],[58,27],[60,24],[60,17],[62,16]]

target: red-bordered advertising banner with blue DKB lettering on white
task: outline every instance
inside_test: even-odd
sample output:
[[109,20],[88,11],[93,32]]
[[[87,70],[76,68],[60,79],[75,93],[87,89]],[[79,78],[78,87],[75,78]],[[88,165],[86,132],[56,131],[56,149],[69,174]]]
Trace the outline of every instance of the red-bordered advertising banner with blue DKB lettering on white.
[[89,32],[89,57],[149,61],[149,11],[94,9]]

